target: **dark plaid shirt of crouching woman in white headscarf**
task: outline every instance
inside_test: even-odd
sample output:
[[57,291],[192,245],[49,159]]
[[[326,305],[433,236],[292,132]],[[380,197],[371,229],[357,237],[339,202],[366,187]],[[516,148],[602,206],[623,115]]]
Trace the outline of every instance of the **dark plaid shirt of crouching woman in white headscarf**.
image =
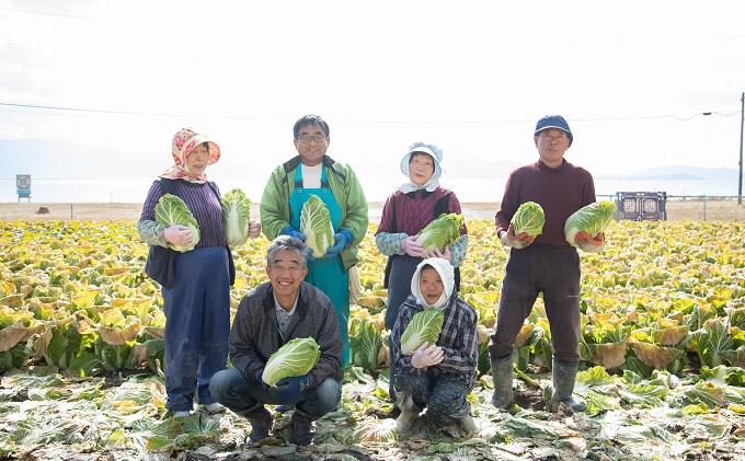
[[469,389],[473,389],[475,367],[479,362],[479,336],[477,334],[479,315],[475,310],[460,299],[457,292],[454,292],[443,311],[445,314],[443,331],[437,338],[437,346],[444,351],[443,361],[432,367],[414,368],[411,365],[411,356],[401,354],[401,335],[414,314],[424,309],[426,307],[419,304],[413,295],[409,295],[409,298],[401,304],[399,318],[391,331],[393,346],[391,357],[396,358],[396,367],[411,374],[429,373],[438,377],[444,373],[455,373],[463,379]]

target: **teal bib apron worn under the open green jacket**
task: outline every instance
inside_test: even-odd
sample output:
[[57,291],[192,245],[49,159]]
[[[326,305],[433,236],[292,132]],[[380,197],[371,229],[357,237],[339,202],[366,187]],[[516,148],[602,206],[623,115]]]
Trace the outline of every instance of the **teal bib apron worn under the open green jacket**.
[[[334,232],[339,231],[342,221],[342,209],[329,187],[325,175],[325,166],[321,170],[321,187],[302,187],[302,165],[295,170],[295,187],[289,197],[290,224],[300,229],[300,212],[302,205],[311,195],[318,196],[329,208],[331,224]],[[342,336],[342,369],[349,362],[349,274],[344,270],[342,256],[323,258],[319,257],[308,262],[308,275],[306,281],[323,291],[334,304],[339,330]]]

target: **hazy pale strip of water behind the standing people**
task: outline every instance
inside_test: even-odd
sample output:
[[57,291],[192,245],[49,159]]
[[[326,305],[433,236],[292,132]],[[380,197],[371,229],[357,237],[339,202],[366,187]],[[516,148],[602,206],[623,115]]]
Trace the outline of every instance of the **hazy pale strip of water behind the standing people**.
[[[266,178],[215,178],[222,193],[240,187],[256,203]],[[506,180],[506,178],[505,178]],[[442,186],[456,193],[462,203],[502,200],[505,180],[443,180]],[[59,180],[32,177],[31,201],[38,204],[122,203],[139,204],[153,178]],[[368,201],[385,201],[399,183],[389,178],[362,180]],[[618,192],[665,192],[667,197],[736,197],[737,181],[596,181],[598,199],[609,199]],[[0,178],[0,203],[18,201],[15,178]],[[26,201],[25,198],[21,199]]]

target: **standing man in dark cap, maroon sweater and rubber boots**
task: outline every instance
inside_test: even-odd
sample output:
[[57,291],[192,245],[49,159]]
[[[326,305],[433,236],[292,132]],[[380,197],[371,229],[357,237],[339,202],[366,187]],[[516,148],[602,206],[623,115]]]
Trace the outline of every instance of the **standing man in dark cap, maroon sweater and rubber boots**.
[[[541,291],[553,346],[552,411],[562,403],[578,412],[586,408],[572,399],[580,361],[580,256],[564,238],[564,222],[596,198],[589,172],[564,159],[573,140],[564,117],[548,115],[538,120],[534,141],[539,159],[509,174],[494,219],[496,234],[511,247],[489,344],[494,378],[492,403],[497,408],[507,408],[513,401],[515,338]],[[546,216],[543,231],[535,239],[525,233],[515,235],[509,223],[526,201],[540,205]],[[575,243],[583,251],[599,253],[605,237],[578,232]]]

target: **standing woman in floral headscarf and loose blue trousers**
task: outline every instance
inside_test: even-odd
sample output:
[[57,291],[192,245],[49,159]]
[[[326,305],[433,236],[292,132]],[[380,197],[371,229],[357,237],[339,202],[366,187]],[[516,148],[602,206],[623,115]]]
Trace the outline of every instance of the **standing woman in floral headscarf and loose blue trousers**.
[[[196,246],[175,253],[173,283],[162,287],[165,313],[165,407],[173,416],[188,416],[194,396],[200,411],[219,415],[225,408],[209,393],[209,380],[227,366],[230,333],[229,250],[222,234],[222,209],[217,185],[205,170],[220,158],[220,148],[192,129],[179,130],[171,146],[174,164],[150,186],[137,224],[150,245]],[[199,235],[185,226],[156,222],[156,205],[165,193],[179,196],[199,224]],[[261,224],[249,220],[249,237]]]

